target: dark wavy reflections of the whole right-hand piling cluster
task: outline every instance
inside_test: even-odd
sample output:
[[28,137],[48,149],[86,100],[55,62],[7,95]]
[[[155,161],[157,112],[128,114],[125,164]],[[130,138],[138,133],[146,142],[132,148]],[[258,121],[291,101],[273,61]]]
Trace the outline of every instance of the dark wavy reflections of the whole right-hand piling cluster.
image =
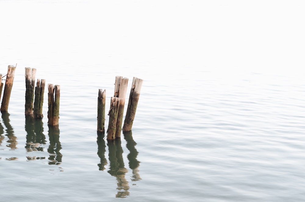
[[[135,149],[136,142],[132,138],[132,132],[123,132],[124,138],[127,142],[126,147],[130,151],[127,155],[129,161],[129,168],[132,170],[131,181],[141,180],[138,174],[138,167],[140,162],[137,160],[138,151]],[[104,134],[98,132],[97,144],[98,144],[98,156],[100,157],[100,163],[98,164],[99,170],[105,170],[107,160],[105,158],[106,142],[103,139]],[[129,195],[129,184],[125,177],[128,172],[125,168],[123,161],[123,149],[121,146],[120,138],[115,140],[107,140],[107,146],[109,151],[109,170],[108,173],[117,179],[117,189],[119,190],[116,194],[117,198],[125,198]]]

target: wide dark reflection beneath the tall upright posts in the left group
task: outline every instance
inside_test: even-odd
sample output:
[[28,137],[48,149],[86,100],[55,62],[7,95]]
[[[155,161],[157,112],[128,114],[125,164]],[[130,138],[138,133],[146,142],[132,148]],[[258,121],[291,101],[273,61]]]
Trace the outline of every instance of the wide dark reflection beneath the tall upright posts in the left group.
[[[41,119],[34,119],[31,115],[25,116],[25,131],[27,132],[27,152],[43,151],[45,145],[45,135],[43,134],[43,122]],[[45,159],[45,157],[27,157],[27,160]]]

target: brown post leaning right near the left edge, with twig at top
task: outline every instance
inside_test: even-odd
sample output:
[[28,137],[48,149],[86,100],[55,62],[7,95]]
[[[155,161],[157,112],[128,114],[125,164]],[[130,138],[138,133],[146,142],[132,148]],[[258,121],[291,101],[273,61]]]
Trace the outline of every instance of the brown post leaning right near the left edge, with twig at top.
[[7,75],[5,79],[5,86],[4,86],[0,111],[7,111],[9,108],[9,98],[11,96],[11,92],[13,88],[15,70],[16,70],[16,66],[13,65],[9,65],[7,68]]

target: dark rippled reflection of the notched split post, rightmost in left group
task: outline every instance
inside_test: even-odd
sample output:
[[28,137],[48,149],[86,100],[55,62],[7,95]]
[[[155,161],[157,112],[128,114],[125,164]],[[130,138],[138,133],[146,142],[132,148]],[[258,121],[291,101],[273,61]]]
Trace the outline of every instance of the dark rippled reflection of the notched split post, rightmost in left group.
[[61,144],[59,142],[59,127],[58,125],[49,125],[49,141],[48,153],[50,154],[48,160],[49,165],[59,165],[62,162],[63,155],[59,152]]

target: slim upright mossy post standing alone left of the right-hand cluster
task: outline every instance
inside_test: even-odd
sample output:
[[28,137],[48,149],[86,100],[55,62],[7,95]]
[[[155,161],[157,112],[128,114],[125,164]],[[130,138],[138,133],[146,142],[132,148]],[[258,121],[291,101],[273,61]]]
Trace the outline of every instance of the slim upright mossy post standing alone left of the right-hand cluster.
[[97,131],[105,132],[106,90],[99,89],[97,105]]

